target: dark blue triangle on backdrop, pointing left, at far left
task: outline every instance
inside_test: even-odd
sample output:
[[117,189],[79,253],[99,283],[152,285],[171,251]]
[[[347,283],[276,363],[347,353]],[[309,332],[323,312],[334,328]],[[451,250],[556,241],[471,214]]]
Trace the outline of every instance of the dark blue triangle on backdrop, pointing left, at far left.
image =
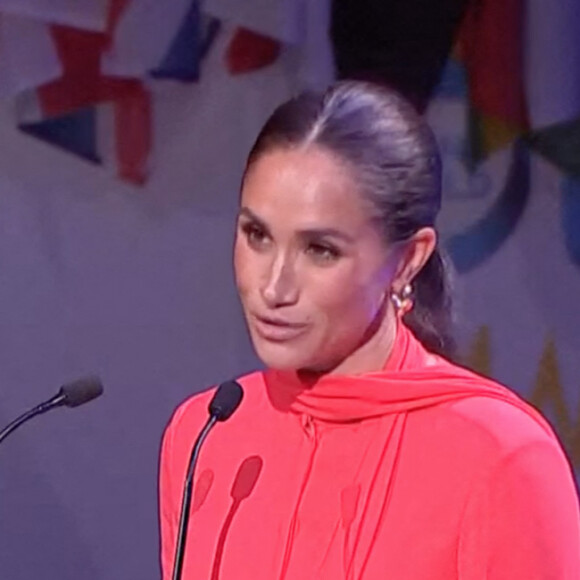
[[33,137],[60,147],[92,163],[101,163],[97,153],[96,109],[89,107],[18,128]]

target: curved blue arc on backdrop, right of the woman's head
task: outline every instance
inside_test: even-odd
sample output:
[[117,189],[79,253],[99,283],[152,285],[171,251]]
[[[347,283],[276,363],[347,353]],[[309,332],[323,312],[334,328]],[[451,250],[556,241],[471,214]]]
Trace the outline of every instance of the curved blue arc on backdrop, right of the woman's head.
[[530,153],[523,141],[517,140],[506,183],[487,215],[445,242],[460,274],[477,268],[497,252],[518,225],[529,195]]

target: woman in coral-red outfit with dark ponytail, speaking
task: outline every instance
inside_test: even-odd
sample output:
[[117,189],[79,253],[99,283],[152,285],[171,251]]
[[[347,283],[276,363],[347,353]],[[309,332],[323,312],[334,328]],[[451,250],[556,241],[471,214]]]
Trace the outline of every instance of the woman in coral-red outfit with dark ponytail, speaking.
[[[576,580],[578,501],[546,421],[453,365],[433,136],[343,82],[279,107],[249,155],[234,263],[267,371],[197,467],[187,580]],[[163,441],[164,578],[192,441]]]

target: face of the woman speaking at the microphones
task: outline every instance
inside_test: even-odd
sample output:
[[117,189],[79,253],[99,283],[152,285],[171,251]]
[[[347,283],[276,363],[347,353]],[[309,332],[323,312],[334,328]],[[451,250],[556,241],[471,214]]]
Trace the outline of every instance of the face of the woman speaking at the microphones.
[[317,147],[274,149],[250,166],[240,205],[236,282],[264,364],[381,368],[397,264],[344,164]]

